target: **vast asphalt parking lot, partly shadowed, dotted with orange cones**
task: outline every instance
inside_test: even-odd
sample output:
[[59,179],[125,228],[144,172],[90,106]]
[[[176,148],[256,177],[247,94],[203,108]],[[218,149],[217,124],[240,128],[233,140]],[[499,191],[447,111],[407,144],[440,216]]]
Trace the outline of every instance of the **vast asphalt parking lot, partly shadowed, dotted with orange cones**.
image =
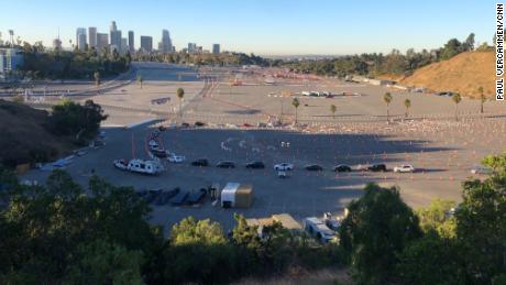
[[[228,182],[253,185],[254,201],[249,209],[213,207],[209,198],[199,206],[153,206],[152,221],[165,226],[166,230],[187,216],[210,218],[230,229],[234,224],[233,212],[249,218],[288,212],[299,221],[326,211],[341,213],[371,182],[398,185],[403,198],[413,207],[426,206],[435,198],[460,200],[461,183],[471,176],[471,167],[479,164],[484,155],[502,152],[506,142],[504,117],[496,116],[504,110],[494,102],[487,103],[486,116],[476,118],[465,116],[475,113],[476,102],[463,100],[459,106],[461,119],[455,121],[453,118],[433,119],[441,114],[453,116],[454,105],[448,98],[394,94],[392,114],[400,118],[405,111],[402,98],[411,98],[413,117],[433,118],[411,118],[387,124],[382,102],[385,87],[351,86],[334,79],[308,81],[300,86],[285,80],[265,86],[257,77],[251,77],[249,83],[245,77],[244,86],[230,86],[224,73],[207,83],[194,77],[191,80],[179,80],[174,75],[164,77],[163,73],[173,73],[170,68],[153,68],[143,73],[145,84],[142,89],[130,84],[122,87],[125,91],[117,90],[92,98],[109,106],[105,108],[110,114],[103,128],[106,145],[75,157],[66,169],[82,185],[87,184],[94,169],[116,185],[133,186],[136,190],[180,187],[182,190],[197,191],[215,183],[223,187]],[[178,117],[179,102],[175,97],[178,86],[186,86],[187,90],[183,118]],[[318,89],[359,92],[362,96],[301,98],[298,114],[306,127],[293,128],[289,124],[295,119],[292,97],[276,97],[286,89],[294,94]],[[168,105],[150,105],[152,99],[167,95],[172,98]],[[330,103],[338,107],[336,117],[329,111]],[[111,108],[114,106],[117,109]],[[146,111],[139,111],[142,108]],[[254,125],[267,122],[268,116],[279,114],[287,127],[241,127],[244,122]],[[162,120],[124,128],[147,119]],[[193,124],[197,120],[205,122],[206,127],[169,128],[160,135],[165,150],[186,156],[184,163],[164,161],[167,171],[158,176],[113,167],[112,162],[118,158],[148,158],[147,140],[160,123],[169,125],[186,121]],[[208,158],[211,165],[191,166],[190,162],[197,158]],[[232,161],[237,167],[218,168],[215,165],[219,161]],[[251,161],[262,161],[266,167],[246,169],[244,165]],[[274,164],[282,162],[295,165],[289,178],[278,178],[273,169]],[[338,164],[356,167],[373,163],[385,163],[389,169],[408,163],[419,171],[414,174],[331,171]],[[307,164],[319,164],[323,171],[308,172],[304,169]],[[34,169],[22,178],[44,180],[47,175],[47,172]]]

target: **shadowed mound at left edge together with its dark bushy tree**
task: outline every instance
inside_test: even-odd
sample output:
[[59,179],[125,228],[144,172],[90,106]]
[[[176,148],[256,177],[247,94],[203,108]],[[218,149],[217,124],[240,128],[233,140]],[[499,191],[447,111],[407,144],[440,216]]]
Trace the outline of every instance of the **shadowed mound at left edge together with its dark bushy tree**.
[[65,100],[51,113],[0,100],[0,165],[46,162],[87,144],[105,120],[100,106]]

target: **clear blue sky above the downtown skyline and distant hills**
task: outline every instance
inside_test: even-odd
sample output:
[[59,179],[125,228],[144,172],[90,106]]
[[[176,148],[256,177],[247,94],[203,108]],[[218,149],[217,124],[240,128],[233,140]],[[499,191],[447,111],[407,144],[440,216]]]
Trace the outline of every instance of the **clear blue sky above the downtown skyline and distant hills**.
[[51,45],[59,26],[68,46],[76,28],[108,32],[114,20],[123,34],[135,32],[136,45],[142,34],[156,46],[168,29],[177,50],[188,42],[207,50],[220,43],[261,55],[419,51],[471,32],[491,42],[495,28],[490,0],[10,0],[1,10],[3,40],[13,29],[24,41]]

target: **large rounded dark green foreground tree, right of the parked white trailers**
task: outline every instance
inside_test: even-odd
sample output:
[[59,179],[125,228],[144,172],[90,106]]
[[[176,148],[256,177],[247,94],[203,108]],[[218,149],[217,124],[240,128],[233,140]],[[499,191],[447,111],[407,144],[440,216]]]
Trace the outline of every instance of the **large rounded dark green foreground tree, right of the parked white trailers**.
[[339,234],[348,261],[364,283],[385,284],[395,277],[404,248],[421,237],[418,218],[397,188],[365,187],[348,206]]

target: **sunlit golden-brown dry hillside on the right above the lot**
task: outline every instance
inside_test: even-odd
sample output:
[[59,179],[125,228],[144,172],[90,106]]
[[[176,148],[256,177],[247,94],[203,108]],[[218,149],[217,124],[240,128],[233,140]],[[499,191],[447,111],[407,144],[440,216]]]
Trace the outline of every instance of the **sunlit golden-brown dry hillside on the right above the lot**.
[[435,91],[457,91],[471,97],[476,97],[476,90],[482,86],[485,95],[492,97],[495,94],[494,61],[495,54],[491,52],[462,53],[421,67],[399,84]]

